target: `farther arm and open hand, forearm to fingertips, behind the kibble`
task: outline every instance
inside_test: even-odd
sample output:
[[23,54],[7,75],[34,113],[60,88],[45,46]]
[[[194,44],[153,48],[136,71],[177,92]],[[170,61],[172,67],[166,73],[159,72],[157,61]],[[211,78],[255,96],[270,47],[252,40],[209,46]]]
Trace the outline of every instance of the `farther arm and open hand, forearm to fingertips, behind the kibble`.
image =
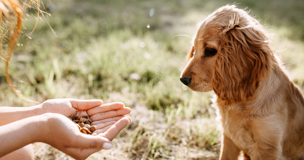
[[[99,99],[50,99],[31,107],[1,107],[0,117],[3,118],[3,121],[0,121],[0,126],[44,113],[59,113],[66,117],[70,117],[71,115],[83,116],[87,114],[92,121],[97,121],[129,114],[131,113],[131,109],[125,107],[121,102],[103,104],[103,101]],[[103,116],[105,114],[106,116]],[[116,119],[116,121],[117,120],[118,119]]]

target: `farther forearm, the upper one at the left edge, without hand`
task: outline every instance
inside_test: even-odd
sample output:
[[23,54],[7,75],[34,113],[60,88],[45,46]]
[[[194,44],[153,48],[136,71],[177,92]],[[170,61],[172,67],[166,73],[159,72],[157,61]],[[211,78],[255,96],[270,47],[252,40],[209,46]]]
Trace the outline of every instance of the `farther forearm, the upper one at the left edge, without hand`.
[[0,126],[25,119],[32,116],[44,114],[41,105],[32,107],[0,107]]

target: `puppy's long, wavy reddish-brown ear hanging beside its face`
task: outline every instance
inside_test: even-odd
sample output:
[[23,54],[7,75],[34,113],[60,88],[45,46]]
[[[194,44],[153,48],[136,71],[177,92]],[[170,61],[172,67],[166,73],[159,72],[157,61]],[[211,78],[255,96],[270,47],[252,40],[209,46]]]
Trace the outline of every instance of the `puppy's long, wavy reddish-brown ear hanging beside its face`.
[[212,85],[224,105],[252,99],[261,79],[270,75],[274,62],[270,42],[263,27],[256,26],[235,25],[220,35]]

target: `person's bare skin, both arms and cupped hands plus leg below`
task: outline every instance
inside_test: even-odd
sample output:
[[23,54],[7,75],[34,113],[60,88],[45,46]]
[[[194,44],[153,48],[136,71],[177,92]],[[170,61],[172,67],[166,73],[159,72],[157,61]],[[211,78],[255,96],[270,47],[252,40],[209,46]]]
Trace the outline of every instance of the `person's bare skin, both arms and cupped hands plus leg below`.
[[[131,109],[121,102],[103,105],[102,100],[71,98],[47,100],[32,107],[0,107],[0,117],[4,119],[0,121],[0,148],[3,148],[0,160],[18,156],[33,159],[33,148],[28,145],[33,142],[44,142],[75,159],[85,159],[96,151],[112,147],[112,144],[103,144],[111,143],[131,121],[130,117],[123,116],[129,113]],[[84,114],[96,125],[97,130],[93,133],[98,136],[80,133],[67,118]]]

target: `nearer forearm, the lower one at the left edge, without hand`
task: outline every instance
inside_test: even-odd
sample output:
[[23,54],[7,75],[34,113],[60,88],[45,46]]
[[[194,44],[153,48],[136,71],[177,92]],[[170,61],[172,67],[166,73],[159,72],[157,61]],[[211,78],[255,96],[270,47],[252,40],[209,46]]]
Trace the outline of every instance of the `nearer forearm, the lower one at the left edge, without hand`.
[[0,126],[0,157],[33,142],[42,141],[47,119],[33,116]]

